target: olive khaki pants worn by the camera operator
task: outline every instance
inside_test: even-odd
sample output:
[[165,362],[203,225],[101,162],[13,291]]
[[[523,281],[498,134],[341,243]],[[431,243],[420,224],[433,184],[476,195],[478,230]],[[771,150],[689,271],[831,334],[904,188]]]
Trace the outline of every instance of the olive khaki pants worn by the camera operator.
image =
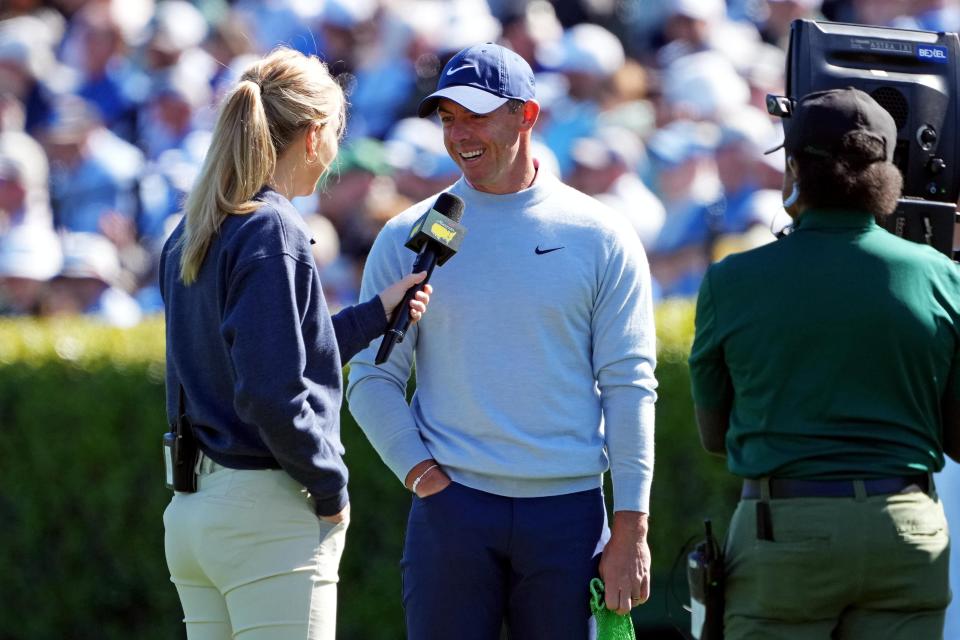
[[756,500],[727,538],[727,640],[943,637],[949,543],[925,493],[771,500],[773,541],[757,540]]

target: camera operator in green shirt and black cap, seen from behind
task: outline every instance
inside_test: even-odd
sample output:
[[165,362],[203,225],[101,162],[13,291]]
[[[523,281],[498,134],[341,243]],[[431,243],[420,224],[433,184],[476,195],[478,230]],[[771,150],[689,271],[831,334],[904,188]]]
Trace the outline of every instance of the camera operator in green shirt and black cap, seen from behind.
[[877,225],[902,188],[893,118],[804,96],[784,148],[795,230],[713,265],[690,356],[704,447],[744,478],[725,637],[941,638],[960,457],[960,271]]

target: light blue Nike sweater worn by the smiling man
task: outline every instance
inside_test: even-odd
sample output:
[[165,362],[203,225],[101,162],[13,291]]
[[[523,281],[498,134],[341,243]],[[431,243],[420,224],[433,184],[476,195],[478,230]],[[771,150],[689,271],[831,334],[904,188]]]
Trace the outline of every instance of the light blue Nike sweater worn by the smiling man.
[[[450,191],[468,233],[434,272],[430,308],[382,366],[379,340],[352,361],[347,398],[361,428],[401,481],[435,458],[475,489],[549,496],[598,487],[610,468],[614,509],[648,512],[656,337],[636,233],[546,172],[513,194],[463,179]],[[410,272],[403,244],[434,200],[387,223],[361,296]]]

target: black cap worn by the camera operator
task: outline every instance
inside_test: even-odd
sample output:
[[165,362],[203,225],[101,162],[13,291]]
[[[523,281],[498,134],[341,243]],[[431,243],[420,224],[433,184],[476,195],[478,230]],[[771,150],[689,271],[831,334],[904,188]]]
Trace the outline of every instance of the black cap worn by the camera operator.
[[858,132],[883,143],[884,157],[868,160],[893,162],[897,144],[893,116],[868,94],[853,87],[808,93],[800,98],[784,126],[783,143],[767,153],[783,147],[792,154],[836,156],[842,153],[844,136]]

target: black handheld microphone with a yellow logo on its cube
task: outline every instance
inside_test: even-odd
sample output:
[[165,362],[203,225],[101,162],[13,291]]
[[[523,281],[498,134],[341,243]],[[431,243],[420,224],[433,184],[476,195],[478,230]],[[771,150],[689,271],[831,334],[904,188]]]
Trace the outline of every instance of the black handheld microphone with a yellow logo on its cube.
[[413,273],[427,272],[423,282],[407,289],[403,300],[393,311],[390,318],[390,328],[383,336],[380,350],[374,360],[383,364],[390,358],[394,345],[403,342],[403,338],[410,328],[410,301],[423,285],[430,281],[434,267],[442,266],[460,248],[463,236],[467,229],[460,224],[463,217],[463,200],[451,193],[441,193],[433,208],[427,211],[413,225],[406,246],[417,253],[413,263]]

